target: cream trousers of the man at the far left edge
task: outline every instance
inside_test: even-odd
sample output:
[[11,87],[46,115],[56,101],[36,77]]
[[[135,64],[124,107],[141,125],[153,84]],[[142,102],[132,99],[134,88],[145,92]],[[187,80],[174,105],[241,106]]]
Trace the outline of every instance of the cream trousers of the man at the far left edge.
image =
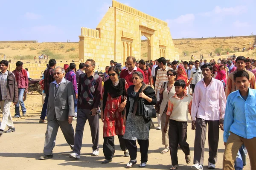
[[0,102],[1,110],[3,113],[3,119],[0,126],[1,130],[4,130],[6,128],[6,125],[8,129],[14,127],[12,122],[12,115],[10,111],[11,104],[12,104],[12,101],[7,101],[7,100],[3,100]]

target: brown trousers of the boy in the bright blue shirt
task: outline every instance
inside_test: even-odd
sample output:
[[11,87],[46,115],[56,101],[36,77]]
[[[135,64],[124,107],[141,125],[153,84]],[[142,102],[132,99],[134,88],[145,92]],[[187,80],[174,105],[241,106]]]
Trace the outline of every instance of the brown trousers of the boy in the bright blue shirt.
[[234,162],[241,145],[244,144],[249,158],[251,170],[256,170],[256,137],[252,139],[245,139],[234,133],[230,133],[227,139],[225,152],[223,155],[223,170],[234,170]]

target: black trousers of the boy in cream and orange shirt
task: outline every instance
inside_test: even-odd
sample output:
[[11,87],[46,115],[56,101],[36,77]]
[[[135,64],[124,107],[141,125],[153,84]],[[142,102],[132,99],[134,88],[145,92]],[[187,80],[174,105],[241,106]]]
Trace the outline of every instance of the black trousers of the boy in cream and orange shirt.
[[169,147],[173,166],[178,164],[178,144],[185,155],[190,154],[189,144],[186,142],[187,126],[187,122],[169,121]]

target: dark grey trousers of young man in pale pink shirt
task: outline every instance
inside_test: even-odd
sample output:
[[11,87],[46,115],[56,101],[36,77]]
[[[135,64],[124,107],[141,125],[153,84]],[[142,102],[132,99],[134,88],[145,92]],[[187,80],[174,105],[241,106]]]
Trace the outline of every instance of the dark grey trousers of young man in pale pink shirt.
[[195,152],[194,164],[204,164],[204,144],[206,139],[206,126],[208,124],[208,144],[209,159],[212,164],[217,162],[218,141],[219,141],[219,121],[207,121],[196,118],[195,122]]

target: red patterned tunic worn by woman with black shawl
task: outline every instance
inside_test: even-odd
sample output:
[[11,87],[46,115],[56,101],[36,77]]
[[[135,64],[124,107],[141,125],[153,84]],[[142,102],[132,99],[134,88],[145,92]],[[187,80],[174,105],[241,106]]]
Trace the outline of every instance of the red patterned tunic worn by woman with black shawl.
[[[128,89],[128,84],[125,82],[125,91]],[[102,91],[104,94],[104,88]],[[119,112],[119,105],[121,104],[122,96],[113,98],[108,93],[105,110],[103,112],[104,125],[103,125],[103,137],[124,135],[125,126],[123,125],[122,112]]]

